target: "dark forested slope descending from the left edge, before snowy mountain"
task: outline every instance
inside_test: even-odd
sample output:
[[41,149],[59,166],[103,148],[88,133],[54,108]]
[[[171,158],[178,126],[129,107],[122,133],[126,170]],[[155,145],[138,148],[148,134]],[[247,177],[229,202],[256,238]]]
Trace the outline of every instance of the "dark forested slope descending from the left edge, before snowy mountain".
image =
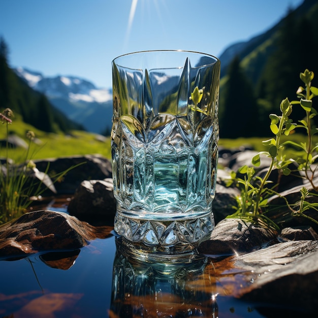
[[48,99],[22,81],[8,65],[8,46],[0,41],[0,112],[10,108],[22,120],[44,132],[82,130],[82,126],[68,119],[53,107]]

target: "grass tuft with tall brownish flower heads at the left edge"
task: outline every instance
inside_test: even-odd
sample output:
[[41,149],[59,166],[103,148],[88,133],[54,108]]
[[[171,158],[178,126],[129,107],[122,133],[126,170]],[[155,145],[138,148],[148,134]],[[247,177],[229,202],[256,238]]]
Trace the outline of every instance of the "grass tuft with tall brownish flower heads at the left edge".
[[9,125],[12,123],[10,117],[13,117],[13,112],[9,108],[5,109],[3,113],[0,113],[0,120],[6,125],[6,155],[4,164],[0,163],[0,224],[26,212],[32,203],[30,197],[39,197],[48,188],[53,193],[56,192],[54,182],[78,166],[73,166],[66,171],[55,174],[51,178],[47,175],[49,165],[44,173],[40,172],[31,160],[31,141],[35,137],[32,131],[26,133],[28,145],[22,164],[10,164]]

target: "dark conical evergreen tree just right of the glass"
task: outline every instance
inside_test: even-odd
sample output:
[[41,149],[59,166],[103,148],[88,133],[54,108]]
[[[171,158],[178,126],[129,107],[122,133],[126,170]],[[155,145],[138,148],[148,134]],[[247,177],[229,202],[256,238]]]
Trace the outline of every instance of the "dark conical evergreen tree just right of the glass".
[[258,107],[253,88],[235,57],[229,65],[222,89],[219,126],[221,138],[260,136]]

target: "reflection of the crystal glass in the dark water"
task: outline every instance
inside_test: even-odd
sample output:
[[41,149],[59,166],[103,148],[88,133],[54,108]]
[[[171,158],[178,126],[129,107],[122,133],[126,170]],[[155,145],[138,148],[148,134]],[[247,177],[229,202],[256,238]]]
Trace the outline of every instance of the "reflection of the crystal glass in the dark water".
[[215,279],[205,275],[208,258],[138,257],[138,250],[123,238],[116,238],[116,248],[110,315],[218,316]]

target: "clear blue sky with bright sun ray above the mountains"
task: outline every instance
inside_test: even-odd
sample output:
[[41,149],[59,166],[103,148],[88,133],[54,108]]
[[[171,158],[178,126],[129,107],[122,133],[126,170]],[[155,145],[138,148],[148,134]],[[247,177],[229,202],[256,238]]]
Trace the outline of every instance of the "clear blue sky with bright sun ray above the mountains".
[[183,49],[219,56],[303,0],[0,0],[11,67],[111,87],[118,55]]

